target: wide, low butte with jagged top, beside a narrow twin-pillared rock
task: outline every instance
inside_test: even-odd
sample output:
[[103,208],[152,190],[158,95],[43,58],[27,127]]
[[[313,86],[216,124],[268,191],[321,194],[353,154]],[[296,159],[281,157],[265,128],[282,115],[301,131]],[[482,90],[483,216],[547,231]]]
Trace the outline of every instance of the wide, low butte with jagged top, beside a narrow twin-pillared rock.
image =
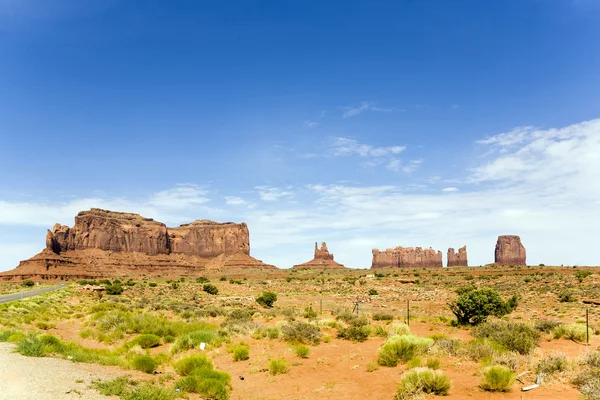
[[402,247],[379,251],[373,249],[371,268],[442,268],[442,252],[432,248]]

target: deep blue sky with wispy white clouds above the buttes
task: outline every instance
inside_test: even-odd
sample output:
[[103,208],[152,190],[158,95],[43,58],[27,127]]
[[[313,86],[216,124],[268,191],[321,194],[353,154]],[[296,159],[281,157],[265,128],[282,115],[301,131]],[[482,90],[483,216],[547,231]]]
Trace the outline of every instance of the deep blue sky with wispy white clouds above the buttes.
[[77,211],[598,265],[594,0],[0,0],[0,270]]

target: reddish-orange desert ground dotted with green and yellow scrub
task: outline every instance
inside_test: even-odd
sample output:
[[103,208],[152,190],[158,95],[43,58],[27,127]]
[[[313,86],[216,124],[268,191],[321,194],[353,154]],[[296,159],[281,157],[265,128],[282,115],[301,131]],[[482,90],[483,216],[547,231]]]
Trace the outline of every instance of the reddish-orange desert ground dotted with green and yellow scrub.
[[[594,268],[546,266],[69,282],[0,305],[0,341],[15,352],[0,358],[28,357],[32,373],[63,359],[80,374],[59,389],[100,398],[598,399],[599,283]],[[0,293],[27,289],[2,283]],[[478,289],[518,305],[457,324],[449,305]],[[36,382],[27,385],[39,392]]]

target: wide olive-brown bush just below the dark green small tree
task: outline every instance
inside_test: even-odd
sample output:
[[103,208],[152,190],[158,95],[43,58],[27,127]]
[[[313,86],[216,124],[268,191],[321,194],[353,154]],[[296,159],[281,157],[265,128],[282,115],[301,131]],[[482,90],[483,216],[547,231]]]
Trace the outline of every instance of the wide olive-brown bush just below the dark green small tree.
[[492,339],[519,354],[531,353],[540,340],[539,331],[531,325],[505,321],[480,324],[473,329],[473,336]]

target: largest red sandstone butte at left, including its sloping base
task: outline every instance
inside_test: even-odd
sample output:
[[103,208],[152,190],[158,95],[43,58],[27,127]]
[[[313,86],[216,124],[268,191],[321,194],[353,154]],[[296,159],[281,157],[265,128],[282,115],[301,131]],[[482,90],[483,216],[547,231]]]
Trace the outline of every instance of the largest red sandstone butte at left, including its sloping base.
[[77,214],[72,228],[54,225],[46,248],[0,279],[193,276],[239,268],[275,268],[250,256],[245,223],[199,220],[167,228],[138,214],[92,208]]

